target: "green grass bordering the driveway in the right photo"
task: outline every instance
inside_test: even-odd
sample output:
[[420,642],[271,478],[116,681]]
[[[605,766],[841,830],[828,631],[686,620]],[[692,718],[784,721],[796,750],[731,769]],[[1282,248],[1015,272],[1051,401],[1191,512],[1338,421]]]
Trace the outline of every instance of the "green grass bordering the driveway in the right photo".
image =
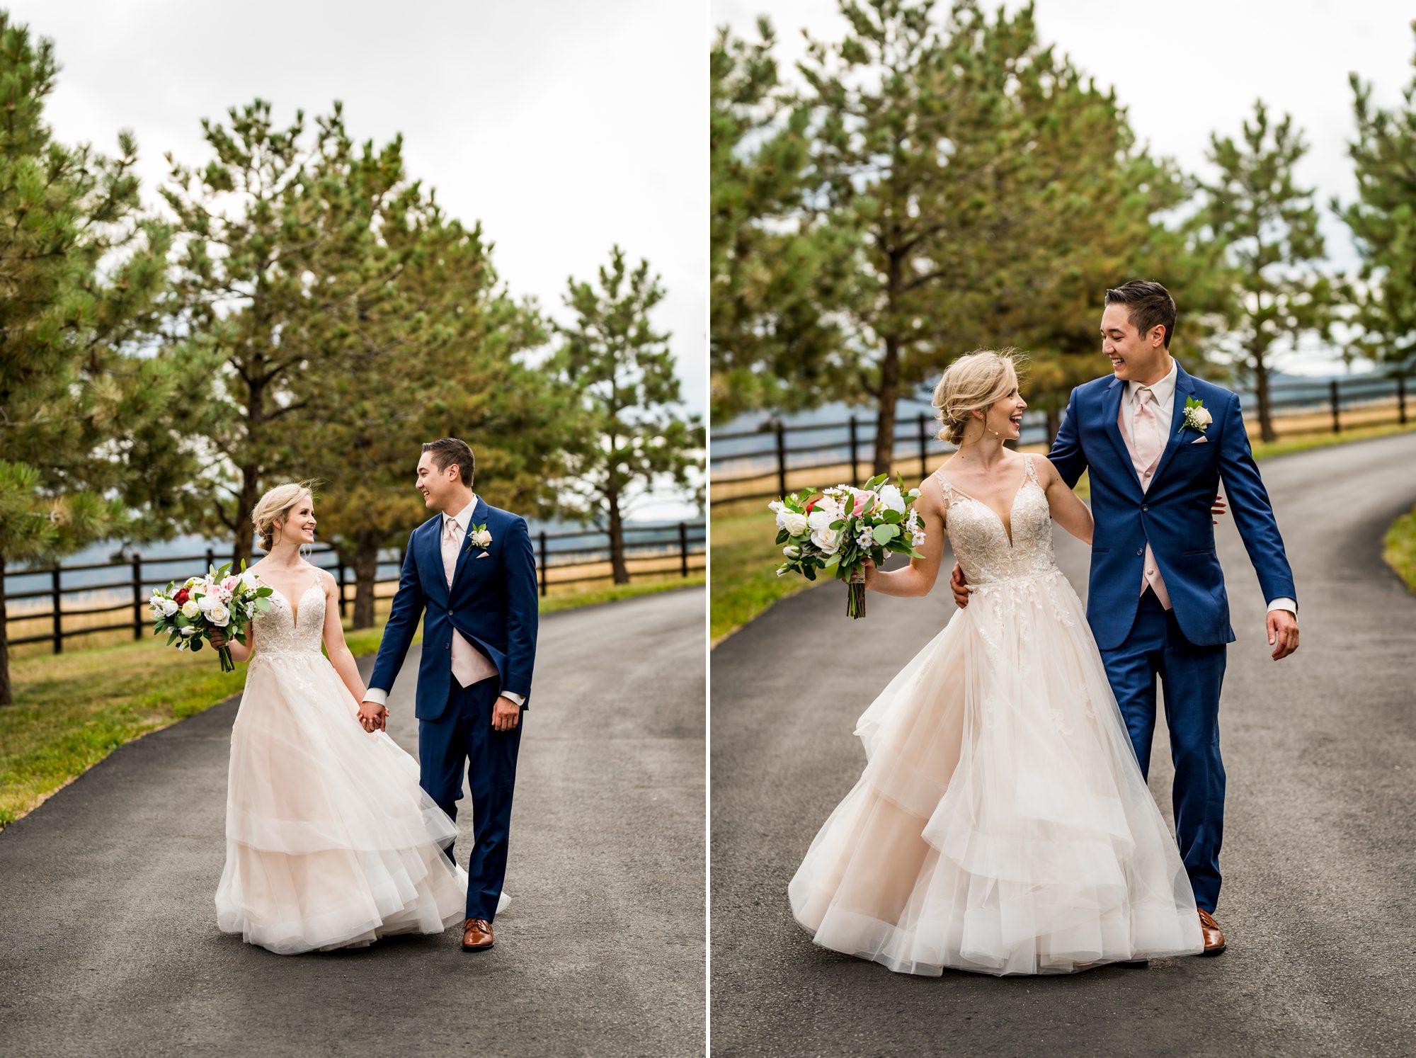
[[[1253,446],[1253,456],[1255,459],[1273,459],[1276,456],[1293,455],[1294,452],[1308,452],[1331,445],[1347,445],[1354,440],[1388,438],[1412,431],[1416,431],[1416,423],[1405,426],[1368,426],[1348,429],[1342,433],[1315,433],[1306,438],[1276,440],[1267,445],[1257,443]],[[1086,474],[1082,474],[1082,480],[1076,484],[1076,494],[1086,500],[1090,497],[1090,482]],[[770,528],[772,521],[765,500],[729,503],[712,511],[709,530],[712,584],[708,588],[708,601],[711,608],[709,629],[714,646],[756,618],[777,599],[814,586],[810,581],[800,576],[777,578],[775,569],[780,558],[780,550],[773,544],[776,534],[770,533]],[[1412,547],[1409,541],[1408,547]],[[1410,555],[1410,551],[1406,554]],[[1391,544],[1388,544],[1388,555],[1391,555]],[[827,581],[817,581],[816,584],[827,584]],[[1408,584],[1412,584],[1410,578],[1408,578]]]

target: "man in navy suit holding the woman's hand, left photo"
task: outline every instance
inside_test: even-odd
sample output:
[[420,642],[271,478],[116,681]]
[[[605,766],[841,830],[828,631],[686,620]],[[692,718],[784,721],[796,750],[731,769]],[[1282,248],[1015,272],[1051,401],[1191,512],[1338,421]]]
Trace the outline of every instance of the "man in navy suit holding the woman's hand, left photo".
[[[416,487],[433,517],[408,538],[360,719],[371,731],[385,725],[388,691],[426,612],[415,710],[419,783],[457,819],[467,770],[474,840],[462,949],[484,952],[507,872],[521,712],[535,664],[537,576],[525,518],[489,507],[472,479],[466,442],[423,445]],[[452,844],[446,851],[452,860]]]

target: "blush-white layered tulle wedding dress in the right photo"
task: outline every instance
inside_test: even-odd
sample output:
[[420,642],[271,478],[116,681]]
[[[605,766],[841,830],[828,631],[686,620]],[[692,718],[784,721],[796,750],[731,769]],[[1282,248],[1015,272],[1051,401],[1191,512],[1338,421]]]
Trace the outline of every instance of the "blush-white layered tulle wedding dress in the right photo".
[[1202,950],[1025,460],[1011,541],[937,474],[973,598],[861,715],[865,770],[789,887],[818,945],[903,973],[1072,973]]

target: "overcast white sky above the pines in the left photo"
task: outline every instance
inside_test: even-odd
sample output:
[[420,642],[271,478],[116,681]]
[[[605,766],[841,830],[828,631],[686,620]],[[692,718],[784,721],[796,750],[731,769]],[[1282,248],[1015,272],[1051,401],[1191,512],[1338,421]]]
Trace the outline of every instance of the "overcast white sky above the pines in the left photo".
[[357,140],[402,132],[409,173],[480,220],[513,293],[564,317],[566,278],[619,242],[668,292],[684,397],[707,404],[707,13],[658,0],[178,3],[8,0],[55,41],[48,119],[112,153],[130,127],[144,191],[164,152],[205,161],[201,118],[261,96],[278,123],[334,99]]

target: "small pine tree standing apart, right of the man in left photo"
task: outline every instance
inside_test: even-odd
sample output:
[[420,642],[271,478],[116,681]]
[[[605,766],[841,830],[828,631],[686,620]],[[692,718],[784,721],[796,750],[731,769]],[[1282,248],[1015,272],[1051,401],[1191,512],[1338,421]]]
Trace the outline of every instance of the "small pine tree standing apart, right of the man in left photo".
[[624,516],[637,500],[658,487],[702,501],[691,470],[701,466],[704,426],[684,412],[670,336],[649,319],[663,299],[649,262],[630,271],[615,246],[598,285],[571,278],[565,305],[575,320],[555,327],[562,341],[549,367],[579,391],[586,415],[562,484],[569,506],[609,533],[615,584],[629,584]]

